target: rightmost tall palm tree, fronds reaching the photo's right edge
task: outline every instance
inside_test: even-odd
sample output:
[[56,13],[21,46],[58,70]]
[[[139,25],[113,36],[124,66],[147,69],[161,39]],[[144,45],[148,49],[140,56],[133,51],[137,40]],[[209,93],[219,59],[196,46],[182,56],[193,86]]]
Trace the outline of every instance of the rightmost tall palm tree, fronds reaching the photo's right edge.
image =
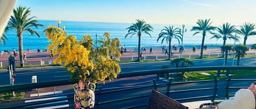
[[248,37],[256,35],[256,31],[253,31],[255,29],[255,24],[243,23],[243,25],[240,27],[241,28],[237,31],[237,33],[244,36],[243,44],[246,45],[246,40],[248,39]]

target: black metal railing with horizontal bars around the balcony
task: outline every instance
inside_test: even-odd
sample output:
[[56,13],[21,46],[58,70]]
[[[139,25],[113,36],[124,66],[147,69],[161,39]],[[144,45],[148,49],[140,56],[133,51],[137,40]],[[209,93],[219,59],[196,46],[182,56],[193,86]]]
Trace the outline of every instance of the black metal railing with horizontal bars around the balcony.
[[[140,89],[140,88],[152,88],[156,89],[158,87],[167,87],[166,91],[162,91],[163,93],[166,93],[166,95],[169,95],[170,93],[178,93],[178,92],[190,92],[190,91],[208,91],[208,90],[214,90],[213,94],[210,96],[202,96],[202,97],[192,97],[192,98],[180,98],[176,99],[177,101],[182,101],[182,100],[188,100],[188,99],[200,99],[200,98],[211,98],[212,101],[215,100],[217,97],[217,77],[220,75],[221,70],[225,70],[226,74],[228,75],[228,81],[233,81],[229,76],[229,71],[230,70],[256,70],[256,67],[247,67],[247,66],[220,66],[220,67],[188,67],[188,68],[170,68],[170,69],[157,69],[157,70],[144,70],[140,72],[129,72],[129,73],[121,73],[118,78],[129,78],[133,76],[143,76],[143,75],[156,75],[156,80],[159,80],[160,74],[167,74],[169,73],[176,73],[176,72],[199,72],[199,71],[210,71],[210,70],[217,70],[217,74],[214,78],[214,80],[204,80],[204,81],[184,81],[184,82],[172,82],[168,79],[168,82],[165,82],[163,84],[157,84],[154,82],[152,85],[140,85],[140,86],[126,86],[126,87],[115,87],[115,88],[102,88],[98,87],[96,90],[96,97],[100,97],[101,94],[108,94],[108,93],[113,93],[113,92],[120,92],[120,91],[128,91],[128,90],[133,90],[133,89]],[[189,83],[198,83],[198,82],[214,82],[213,87],[208,87],[208,88],[197,88],[197,89],[184,89],[180,91],[170,91],[170,86],[173,85],[181,85],[181,84],[189,84]],[[255,81],[255,80],[253,80]],[[227,82],[227,87],[226,87],[226,93],[228,93],[229,88],[239,88],[239,87],[229,87],[229,82]],[[70,84],[75,84],[75,82],[69,81],[69,80],[56,80],[56,81],[47,81],[47,82],[38,82],[34,84],[20,84],[20,85],[14,85],[14,86],[3,86],[0,87],[0,93],[3,92],[12,92],[12,91],[27,91],[29,89],[36,89],[36,88],[44,88],[44,87],[53,87],[53,86],[62,86],[62,85],[70,85]],[[73,93],[72,93],[73,94]],[[229,94],[226,94],[227,98]],[[55,95],[58,97],[59,95]],[[139,98],[146,98],[149,97],[150,94],[145,94],[145,95],[139,95],[139,96],[134,96],[134,97],[126,97],[126,98],[121,98],[121,99],[115,99],[115,100],[106,100],[96,102],[96,106],[103,105],[103,104],[110,104],[114,102],[120,102],[120,101],[126,101],[126,100],[133,100],[133,99],[139,99]],[[61,101],[61,100],[68,100],[68,99],[73,99],[72,96],[68,97],[66,99],[57,99],[57,100],[52,100],[52,101]],[[7,106],[7,107],[0,107],[0,108],[15,108],[15,107],[25,107],[25,106],[31,106],[31,105],[37,105],[37,104],[43,104],[45,102],[52,102],[51,100],[47,101],[37,101],[37,102],[29,102],[29,103],[23,103],[19,105],[12,105],[12,106]],[[146,104],[142,105],[137,105],[137,107],[143,107]],[[132,106],[136,107],[136,106]],[[131,106],[127,106],[124,108],[131,108]]]

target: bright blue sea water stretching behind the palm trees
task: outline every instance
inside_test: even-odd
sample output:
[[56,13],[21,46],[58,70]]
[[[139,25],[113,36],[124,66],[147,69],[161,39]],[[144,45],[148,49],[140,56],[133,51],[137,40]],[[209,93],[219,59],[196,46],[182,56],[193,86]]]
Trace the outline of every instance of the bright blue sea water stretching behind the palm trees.
[[[42,33],[42,31],[49,25],[56,25],[57,21],[49,21],[49,20],[39,20],[39,23],[43,24],[44,27],[40,27],[38,29],[35,29],[38,31],[38,33]],[[122,46],[126,47],[137,47],[138,46],[138,37],[133,36],[132,38],[127,37],[127,39],[124,38],[124,36],[127,34],[126,28],[129,27],[132,23],[106,23],[106,22],[75,22],[75,21],[62,21],[61,27],[65,26],[65,30],[69,35],[75,35],[78,37],[78,40],[81,39],[83,35],[91,35],[93,39],[96,39],[96,34],[98,36],[103,36],[105,32],[110,33],[111,38],[117,37],[121,40]],[[141,37],[141,46],[142,47],[153,47],[153,46],[163,46],[168,45],[167,43],[161,44],[161,42],[157,42],[158,34],[163,29],[164,26],[168,26],[170,24],[151,24],[153,27],[153,33],[151,34],[152,37],[143,34]],[[181,24],[175,24],[174,25],[177,28],[181,27]],[[202,36],[201,34],[192,36],[194,31],[190,31],[193,25],[186,25],[186,28],[188,31],[184,33],[184,40],[183,43],[185,45],[199,45],[201,43]],[[8,31],[7,33],[8,40],[6,41],[6,44],[4,46],[0,47],[0,50],[13,50],[13,48],[18,49],[18,39],[16,36],[16,33],[14,31]],[[206,39],[206,44],[216,44],[222,43],[222,40],[216,41],[215,39],[210,40],[211,35],[209,34]],[[243,38],[243,37],[241,37]],[[241,39],[240,42],[242,42],[243,39]],[[255,43],[256,37],[252,36],[248,39],[247,43]],[[23,49],[26,50],[29,49],[46,49],[47,45],[50,42],[47,41],[47,38],[45,37],[45,34],[41,34],[40,37],[37,37],[35,35],[31,35],[29,33],[23,34]],[[228,41],[227,43],[234,43],[234,41]],[[178,44],[178,41],[174,40],[172,41],[173,44]]]

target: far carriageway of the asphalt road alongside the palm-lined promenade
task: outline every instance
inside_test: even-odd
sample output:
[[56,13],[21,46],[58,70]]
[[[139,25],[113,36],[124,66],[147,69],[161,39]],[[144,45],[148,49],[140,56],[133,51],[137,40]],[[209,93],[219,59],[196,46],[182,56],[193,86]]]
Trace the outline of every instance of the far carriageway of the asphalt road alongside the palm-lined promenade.
[[[256,57],[247,57],[241,59],[241,66],[256,66]],[[228,59],[228,66],[232,65],[232,59]],[[193,60],[193,67],[202,66],[223,66],[224,59],[209,59],[209,60]],[[236,60],[234,62],[236,65]],[[153,70],[161,69],[163,66],[171,66],[170,61],[156,61],[156,62],[132,62],[132,63],[120,63],[121,73],[134,72],[139,70]],[[33,75],[37,75],[37,81],[51,81],[59,79],[69,79],[69,74],[63,69],[63,67],[53,68],[32,68],[32,69],[17,69],[15,78],[15,84],[31,83]],[[0,70],[0,85],[9,84],[9,74],[7,70]]]

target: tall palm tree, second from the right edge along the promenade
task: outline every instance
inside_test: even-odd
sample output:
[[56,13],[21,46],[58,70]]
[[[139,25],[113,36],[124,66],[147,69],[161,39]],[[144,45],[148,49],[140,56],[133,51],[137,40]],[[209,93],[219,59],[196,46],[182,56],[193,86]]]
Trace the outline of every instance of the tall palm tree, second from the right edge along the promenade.
[[[227,39],[239,41],[240,37],[233,35],[233,33],[237,31],[235,25],[223,23],[222,26],[217,27],[216,30],[217,33],[212,33],[213,36],[211,39],[223,39],[223,47],[225,47]],[[222,57],[224,57],[224,49],[222,50]]]

